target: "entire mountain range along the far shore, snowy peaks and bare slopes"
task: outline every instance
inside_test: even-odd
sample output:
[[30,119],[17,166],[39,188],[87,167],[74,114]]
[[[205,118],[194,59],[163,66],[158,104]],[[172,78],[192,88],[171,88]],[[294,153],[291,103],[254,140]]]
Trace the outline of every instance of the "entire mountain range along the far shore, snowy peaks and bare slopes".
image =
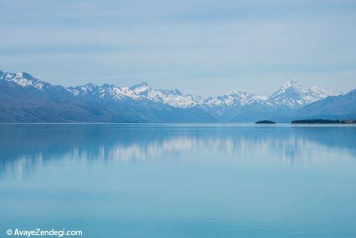
[[0,70],[0,122],[251,122],[261,119],[354,119],[356,90],[302,87],[296,80],[270,96],[239,90],[219,97],[131,87],[51,85],[26,72]]

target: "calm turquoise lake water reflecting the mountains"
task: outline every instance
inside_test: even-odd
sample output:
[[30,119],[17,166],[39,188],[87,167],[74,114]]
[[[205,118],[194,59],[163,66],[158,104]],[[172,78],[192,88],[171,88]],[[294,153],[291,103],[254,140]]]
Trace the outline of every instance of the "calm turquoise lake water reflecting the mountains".
[[0,124],[0,237],[356,237],[356,126]]

